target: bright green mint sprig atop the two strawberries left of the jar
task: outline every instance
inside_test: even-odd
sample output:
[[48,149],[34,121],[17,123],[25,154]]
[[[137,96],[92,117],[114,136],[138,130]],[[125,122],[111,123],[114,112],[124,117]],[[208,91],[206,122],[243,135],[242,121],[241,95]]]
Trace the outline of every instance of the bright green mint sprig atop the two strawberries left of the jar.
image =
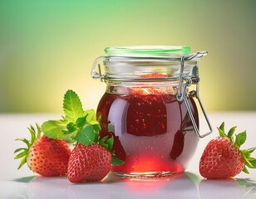
[[58,120],[48,120],[42,124],[42,132],[48,138],[71,138],[73,143],[83,143],[90,146],[98,143],[108,149],[112,154],[112,164],[121,165],[124,163],[116,158],[112,150],[114,138],[106,136],[100,138],[101,126],[96,120],[94,109],[82,109],[81,100],[73,90],[67,90],[63,100],[63,111],[65,116]]

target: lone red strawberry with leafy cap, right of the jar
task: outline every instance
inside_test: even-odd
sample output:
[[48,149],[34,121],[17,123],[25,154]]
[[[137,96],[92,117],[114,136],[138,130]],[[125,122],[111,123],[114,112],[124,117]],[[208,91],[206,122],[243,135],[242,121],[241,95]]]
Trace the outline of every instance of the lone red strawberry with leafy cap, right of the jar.
[[234,138],[235,128],[231,128],[226,134],[224,123],[219,126],[219,137],[208,143],[200,158],[199,172],[203,177],[224,179],[234,177],[242,171],[249,173],[247,167],[256,167],[256,159],[251,157],[256,148],[241,150],[246,132],[239,133]]

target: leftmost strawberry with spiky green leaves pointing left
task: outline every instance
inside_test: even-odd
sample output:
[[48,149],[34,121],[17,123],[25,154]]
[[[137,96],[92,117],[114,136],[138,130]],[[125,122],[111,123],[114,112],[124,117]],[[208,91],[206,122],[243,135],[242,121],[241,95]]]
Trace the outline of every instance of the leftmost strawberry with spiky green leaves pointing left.
[[17,139],[27,144],[27,148],[18,148],[14,152],[22,151],[15,157],[15,159],[22,158],[18,169],[27,163],[33,172],[42,176],[66,175],[67,163],[71,154],[71,149],[66,142],[62,139],[47,138],[45,135],[41,137],[41,129],[38,124],[37,136],[32,126],[29,131],[32,136],[31,143],[26,138]]

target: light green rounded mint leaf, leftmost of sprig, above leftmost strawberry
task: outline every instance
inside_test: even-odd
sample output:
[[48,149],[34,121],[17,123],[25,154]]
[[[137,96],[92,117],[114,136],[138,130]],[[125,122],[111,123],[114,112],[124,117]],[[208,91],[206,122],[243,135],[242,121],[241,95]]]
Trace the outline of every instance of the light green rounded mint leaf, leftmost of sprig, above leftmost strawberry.
[[48,138],[57,139],[65,136],[62,129],[66,129],[66,124],[68,124],[66,120],[48,120],[42,124],[41,128]]

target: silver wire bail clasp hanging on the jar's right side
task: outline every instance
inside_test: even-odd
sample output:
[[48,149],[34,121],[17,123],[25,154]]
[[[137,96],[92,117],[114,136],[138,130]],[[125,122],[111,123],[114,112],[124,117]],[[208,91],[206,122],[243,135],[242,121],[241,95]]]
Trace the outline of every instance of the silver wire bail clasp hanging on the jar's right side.
[[[185,106],[188,109],[188,113],[190,114],[190,119],[191,119],[191,122],[193,124],[194,131],[195,131],[195,133],[197,134],[197,136],[199,138],[204,138],[205,136],[212,133],[212,127],[211,127],[211,124],[209,123],[209,119],[208,119],[207,114],[205,112],[204,106],[201,102],[201,99],[199,98],[199,77],[197,75],[194,76],[194,77],[183,77],[183,71],[184,71],[184,62],[185,61],[190,61],[194,58],[199,58],[199,57],[202,57],[202,56],[205,56],[205,55],[207,55],[207,51],[199,51],[199,52],[196,52],[194,54],[181,56],[181,58],[180,58],[179,86],[178,86],[178,91],[177,91],[177,95],[176,95],[176,98],[177,98],[178,101],[182,101],[182,100],[185,101]],[[184,83],[184,81],[185,81],[185,83]],[[196,85],[196,90],[191,90],[189,95],[198,99],[200,109],[202,110],[202,112],[204,114],[204,119],[206,120],[206,122],[208,124],[208,127],[209,127],[209,132],[208,133],[204,133],[204,134],[199,133],[199,128],[198,128],[198,126],[197,126],[197,124],[194,120],[194,116],[193,116],[192,110],[190,108],[189,100],[188,100],[188,97],[186,96],[186,89],[187,89],[187,87],[189,87],[192,84]]]

